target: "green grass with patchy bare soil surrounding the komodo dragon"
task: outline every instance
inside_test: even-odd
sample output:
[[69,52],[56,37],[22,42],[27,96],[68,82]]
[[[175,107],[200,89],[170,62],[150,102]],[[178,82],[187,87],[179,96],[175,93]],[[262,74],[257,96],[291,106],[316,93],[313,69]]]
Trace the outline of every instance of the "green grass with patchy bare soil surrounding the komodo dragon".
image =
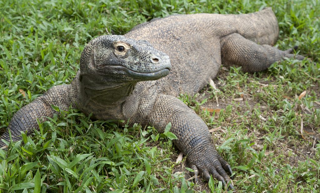
[[[98,35],[125,34],[170,14],[238,14],[266,6],[279,21],[276,46],[298,45],[312,62],[284,60],[255,74],[223,69],[214,80],[219,92],[206,88],[204,96],[181,100],[209,129],[221,126],[213,140],[232,166],[236,191],[319,192],[320,145],[312,138],[320,138],[318,0],[0,1],[0,130],[53,85],[70,83],[85,44]],[[233,100],[240,97],[244,101]],[[212,106],[222,109],[201,108]],[[185,161],[175,163],[179,152],[167,135],[118,123],[93,121],[74,109],[40,123],[39,131],[22,135],[23,143],[0,149],[0,192],[226,191],[218,181],[195,185]]]

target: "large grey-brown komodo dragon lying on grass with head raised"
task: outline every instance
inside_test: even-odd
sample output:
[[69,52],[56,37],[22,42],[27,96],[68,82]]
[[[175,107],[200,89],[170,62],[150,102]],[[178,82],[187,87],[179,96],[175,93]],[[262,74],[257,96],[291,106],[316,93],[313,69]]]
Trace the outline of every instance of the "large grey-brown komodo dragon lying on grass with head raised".
[[[284,57],[302,60],[292,49],[270,46],[278,33],[277,19],[266,8],[240,15],[172,15],[140,24],[124,36],[101,35],[85,46],[70,85],[54,86],[22,107],[7,128],[13,141],[20,140],[20,131],[38,128],[36,119],[56,113],[52,104],[62,110],[72,104],[94,119],[130,120],[159,132],[171,122],[178,137],[174,143],[195,175],[209,180],[212,174],[226,184],[226,171],[232,170],[217,153],[206,123],[176,97],[199,92],[221,64],[258,72]],[[9,140],[9,132],[1,139]]]

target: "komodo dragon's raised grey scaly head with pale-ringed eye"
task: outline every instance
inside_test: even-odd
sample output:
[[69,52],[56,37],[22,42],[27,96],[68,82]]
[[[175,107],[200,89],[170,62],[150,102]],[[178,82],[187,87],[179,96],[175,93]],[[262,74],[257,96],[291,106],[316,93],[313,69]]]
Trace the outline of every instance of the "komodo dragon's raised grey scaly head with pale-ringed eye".
[[90,41],[82,52],[80,80],[89,85],[114,87],[157,80],[168,75],[170,69],[169,56],[147,41],[122,35],[101,35]]

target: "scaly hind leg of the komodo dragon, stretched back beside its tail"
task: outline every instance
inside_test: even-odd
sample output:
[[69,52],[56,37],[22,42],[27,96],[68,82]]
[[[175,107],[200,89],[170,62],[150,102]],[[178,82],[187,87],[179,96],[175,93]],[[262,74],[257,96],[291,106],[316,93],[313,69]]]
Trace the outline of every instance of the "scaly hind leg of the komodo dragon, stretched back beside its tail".
[[220,40],[222,65],[242,66],[244,72],[266,70],[271,64],[284,57],[303,60],[301,55],[291,54],[293,49],[278,50],[270,45],[259,45],[240,34],[230,34]]

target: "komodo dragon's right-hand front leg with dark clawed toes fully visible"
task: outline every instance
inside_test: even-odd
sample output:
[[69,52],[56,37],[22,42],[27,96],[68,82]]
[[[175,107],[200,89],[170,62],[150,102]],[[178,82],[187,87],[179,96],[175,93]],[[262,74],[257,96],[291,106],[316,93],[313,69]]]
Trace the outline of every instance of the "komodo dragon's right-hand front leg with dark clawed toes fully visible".
[[[174,143],[187,155],[196,177],[199,169],[207,181],[210,174],[224,185],[230,181],[226,171],[232,174],[231,167],[216,151],[208,126],[186,104],[173,96],[158,95],[149,115],[149,122],[159,132],[164,132],[166,125],[171,122],[170,131],[179,136]],[[231,183],[229,188],[233,189]]]

